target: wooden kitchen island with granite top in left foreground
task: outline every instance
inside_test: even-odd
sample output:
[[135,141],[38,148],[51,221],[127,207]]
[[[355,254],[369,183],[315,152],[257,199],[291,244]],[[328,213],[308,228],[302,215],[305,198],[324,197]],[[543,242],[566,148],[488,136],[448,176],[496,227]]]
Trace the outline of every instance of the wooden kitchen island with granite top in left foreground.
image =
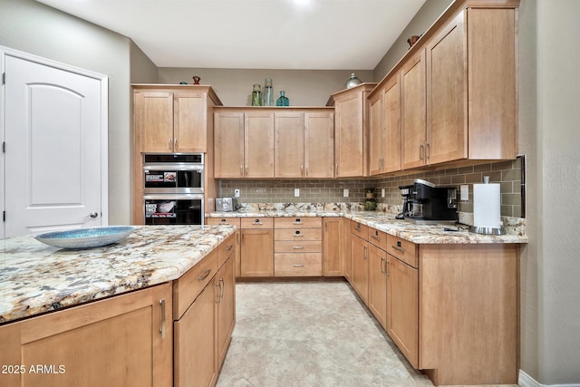
[[5,239],[0,385],[215,382],[235,324],[234,233],[137,227],[86,250]]

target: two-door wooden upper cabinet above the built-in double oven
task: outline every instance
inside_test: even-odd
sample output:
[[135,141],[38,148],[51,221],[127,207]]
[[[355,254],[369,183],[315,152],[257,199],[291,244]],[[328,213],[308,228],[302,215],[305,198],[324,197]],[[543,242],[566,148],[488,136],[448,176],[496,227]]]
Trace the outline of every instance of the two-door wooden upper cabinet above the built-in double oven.
[[213,145],[208,141],[212,109],[221,102],[209,86],[133,84],[132,88],[137,150],[205,153]]

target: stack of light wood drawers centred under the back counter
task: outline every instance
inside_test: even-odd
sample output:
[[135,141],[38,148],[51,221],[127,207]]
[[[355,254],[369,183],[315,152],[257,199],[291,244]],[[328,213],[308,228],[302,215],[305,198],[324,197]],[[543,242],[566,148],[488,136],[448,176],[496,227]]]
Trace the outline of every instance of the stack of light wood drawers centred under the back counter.
[[322,275],[322,218],[275,218],[274,276]]

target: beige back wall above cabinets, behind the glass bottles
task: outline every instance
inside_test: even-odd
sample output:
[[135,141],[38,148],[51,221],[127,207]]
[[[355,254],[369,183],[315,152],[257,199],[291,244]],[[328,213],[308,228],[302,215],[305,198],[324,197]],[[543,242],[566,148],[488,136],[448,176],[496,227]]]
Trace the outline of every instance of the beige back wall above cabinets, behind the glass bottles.
[[325,106],[333,92],[344,89],[344,84],[356,73],[362,82],[372,82],[372,71],[366,70],[245,70],[245,69],[189,69],[163,67],[159,70],[160,83],[193,83],[192,77],[201,77],[202,84],[210,84],[225,106],[250,106],[252,85],[272,78],[274,102],[284,90],[291,106]]

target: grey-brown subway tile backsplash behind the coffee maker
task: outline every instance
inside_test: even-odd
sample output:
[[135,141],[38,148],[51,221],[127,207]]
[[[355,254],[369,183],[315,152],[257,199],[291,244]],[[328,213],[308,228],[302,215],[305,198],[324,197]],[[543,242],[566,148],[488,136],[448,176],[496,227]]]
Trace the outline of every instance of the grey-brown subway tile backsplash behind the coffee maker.
[[[378,203],[401,205],[399,186],[414,179],[425,179],[438,186],[456,187],[460,212],[473,212],[473,183],[488,176],[492,183],[501,184],[501,215],[521,218],[521,167],[519,160],[476,164],[467,167],[418,172],[391,178],[363,179],[239,179],[219,180],[218,195],[233,197],[240,189],[240,203],[356,203],[363,202],[364,189],[374,188]],[[469,200],[459,200],[459,186],[469,186]],[[295,197],[295,189],[299,196]],[[382,189],[385,197],[382,198]],[[345,197],[348,190],[348,197]]]

